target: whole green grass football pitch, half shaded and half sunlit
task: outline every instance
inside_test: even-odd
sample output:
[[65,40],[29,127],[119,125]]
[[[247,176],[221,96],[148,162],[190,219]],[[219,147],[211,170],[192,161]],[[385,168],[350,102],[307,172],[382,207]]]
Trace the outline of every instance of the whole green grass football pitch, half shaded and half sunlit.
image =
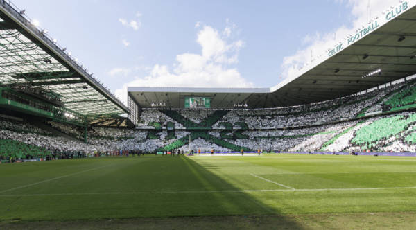
[[239,217],[271,216],[287,217],[289,227],[302,229],[296,223],[300,216],[368,213],[390,213],[381,220],[401,213],[413,216],[404,222],[415,224],[416,158],[411,157],[68,159],[2,164],[0,182],[0,228],[16,227],[7,225],[12,222],[126,218],[232,217],[238,224],[244,222]]

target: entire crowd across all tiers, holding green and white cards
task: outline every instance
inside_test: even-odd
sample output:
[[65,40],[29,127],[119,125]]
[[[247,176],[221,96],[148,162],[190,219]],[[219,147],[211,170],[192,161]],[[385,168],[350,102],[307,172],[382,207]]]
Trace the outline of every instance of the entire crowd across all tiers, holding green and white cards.
[[[135,128],[88,127],[87,143],[83,142],[83,127],[46,122],[54,130],[73,137],[69,139],[28,122],[1,118],[0,139],[19,141],[33,146],[36,151],[41,149],[65,155],[173,149],[228,152],[239,148],[295,152],[416,152],[415,112],[351,120],[363,113],[381,112],[385,104],[413,103],[414,87],[415,80],[367,94],[273,109],[144,109]],[[202,131],[194,132],[198,127]],[[189,138],[192,139],[190,145]],[[10,143],[15,142],[4,143],[10,152]],[[29,149],[26,148],[33,152]]]

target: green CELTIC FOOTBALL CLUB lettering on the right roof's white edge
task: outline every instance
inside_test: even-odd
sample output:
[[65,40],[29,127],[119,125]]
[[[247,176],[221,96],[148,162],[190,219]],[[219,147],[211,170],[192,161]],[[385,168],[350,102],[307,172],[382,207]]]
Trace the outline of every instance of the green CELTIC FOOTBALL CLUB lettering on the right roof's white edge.
[[[385,14],[385,22],[390,21],[391,19],[394,19],[395,17],[401,15],[404,11],[408,9],[408,2],[405,1],[404,3],[401,3],[400,6],[396,6],[389,12]],[[368,26],[363,26],[361,29],[357,30],[355,35],[351,35],[347,39],[347,46],[350,44],[353,44],[354,42],[357,42],[359,39],[365,37],[368,33],[371,33],[376,28],[379,28],[380,24],[378,20],[372,21],[371,24]],[[328,56],[332,57],[333,55],[336,55],[336,53],[342,51],[345,48],[345,44],[341,42],[340,44],[337,44],[335,48],[332,48],[328,51]]]

